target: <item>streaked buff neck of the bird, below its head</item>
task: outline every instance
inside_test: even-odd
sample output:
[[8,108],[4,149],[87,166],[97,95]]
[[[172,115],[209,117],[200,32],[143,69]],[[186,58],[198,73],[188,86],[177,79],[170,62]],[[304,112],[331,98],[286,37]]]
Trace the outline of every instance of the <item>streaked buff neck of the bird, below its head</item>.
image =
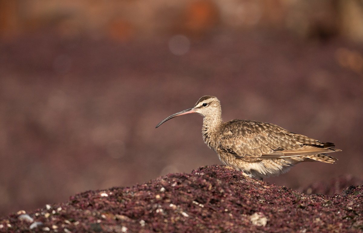
[[220,125],[223,123],[221,113],[216,113],[212,116],[206,116],[203,118],[203,140],[209,148],[216,148],[215,138],[217,137],[217,132],[219,131]]

